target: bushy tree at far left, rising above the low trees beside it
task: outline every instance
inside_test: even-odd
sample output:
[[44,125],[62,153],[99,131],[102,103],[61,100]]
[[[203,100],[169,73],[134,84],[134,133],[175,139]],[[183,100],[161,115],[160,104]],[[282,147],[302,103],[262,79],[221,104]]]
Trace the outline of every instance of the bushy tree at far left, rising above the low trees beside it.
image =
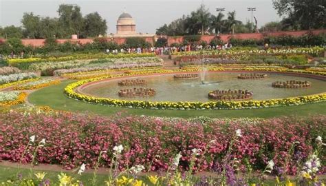
[[40,17],[30,13],[24,13],[23,19],[21,19],[21,23],[23,24],[23,34],[24,37],[28,38],[40,38]]

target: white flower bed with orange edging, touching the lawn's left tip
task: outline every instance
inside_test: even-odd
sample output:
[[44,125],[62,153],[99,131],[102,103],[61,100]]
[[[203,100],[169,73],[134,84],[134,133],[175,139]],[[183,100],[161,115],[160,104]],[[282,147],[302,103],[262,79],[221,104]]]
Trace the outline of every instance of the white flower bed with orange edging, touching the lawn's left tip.
[[24,103],[27,94],[25,92],[0,92],[0,106],[11,106]]

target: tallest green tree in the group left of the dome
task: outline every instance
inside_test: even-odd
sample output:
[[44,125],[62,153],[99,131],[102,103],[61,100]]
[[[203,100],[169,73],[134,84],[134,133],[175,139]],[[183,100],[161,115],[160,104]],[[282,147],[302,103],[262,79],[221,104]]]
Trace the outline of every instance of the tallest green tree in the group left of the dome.
[[83,16],[79,6],[61,4],[58,8],[59,23],[63,28],[65,37],[69,38],[72,34],[78,36],[83,29]]

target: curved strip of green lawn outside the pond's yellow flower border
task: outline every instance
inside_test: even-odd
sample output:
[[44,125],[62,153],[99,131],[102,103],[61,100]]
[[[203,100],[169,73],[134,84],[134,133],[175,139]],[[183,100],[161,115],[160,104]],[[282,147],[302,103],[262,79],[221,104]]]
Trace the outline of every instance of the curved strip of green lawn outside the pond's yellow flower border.
[[260,117],[272,118],[275,116],[299,115],[308,116],[309,114],[326,114],[326,102],[290,107],[274,107],[253,110],[145,110],[131,109],[124,107],[109,107],[104,105],[93,105],[69,99],[63,94],[65,86],[74,81],[63,81],[60,85],[45,87],[28,96],[28,101],[34,105],[47,105],[55,110],[67,110],[73,112],[94,112],[104,116],[115,114],[116,112],[127,112],[135,115],[148,116],[171,116],[191,118],[195,116],[210,116],[213,118],[240,118],[240,117]]

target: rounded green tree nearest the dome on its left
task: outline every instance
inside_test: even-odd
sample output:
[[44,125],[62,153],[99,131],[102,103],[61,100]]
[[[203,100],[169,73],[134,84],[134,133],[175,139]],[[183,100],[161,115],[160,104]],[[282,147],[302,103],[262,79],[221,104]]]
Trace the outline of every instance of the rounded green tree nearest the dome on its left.
[[84,19],[85,37],[97,37],[107,33],[107,21],[100,17],[98,12],[87,14]]

